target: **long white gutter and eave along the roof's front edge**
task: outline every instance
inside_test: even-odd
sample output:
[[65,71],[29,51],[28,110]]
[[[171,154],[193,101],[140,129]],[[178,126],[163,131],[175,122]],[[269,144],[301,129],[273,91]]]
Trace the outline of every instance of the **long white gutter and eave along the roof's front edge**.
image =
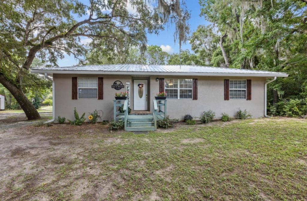
[[41,74],[99,74],[99,75],[177,75],[177,76],[229,76],[229,77],[288,77],[285,73],[181,73],[181,72],[133,72],[133,71],[85,71],[85,70],[35,70],[31,73]]

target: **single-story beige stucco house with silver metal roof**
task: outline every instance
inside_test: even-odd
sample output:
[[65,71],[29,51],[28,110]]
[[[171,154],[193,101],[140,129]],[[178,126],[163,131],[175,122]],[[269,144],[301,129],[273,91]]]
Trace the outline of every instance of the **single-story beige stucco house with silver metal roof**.
[[[263,117],[267,80],[288,76],[259,70],[141,64],[40,67],[31,72],[53,78],[54,117],[73,119],[76,107],[79,114],[85,112],[87,116],[95,109],[101,110],[101,120],[125,119],[124,113],[117,112],[124,103],[114,101],[115,93],[124,91],[130,92],[125,107],[130,107],[133,113],[151,115],[150,120],[157,107],[156,118],[169,115],[183,119],[185,114],[199,117],[207,110],[220,118],[223,112],[234,116],[238,108],[246,109],[254,118]],[[163,91],[167,93],[166,101],[155,101],[156,94]],[[166,103],[164,114],[161,112],[163,107],[166,110]]]

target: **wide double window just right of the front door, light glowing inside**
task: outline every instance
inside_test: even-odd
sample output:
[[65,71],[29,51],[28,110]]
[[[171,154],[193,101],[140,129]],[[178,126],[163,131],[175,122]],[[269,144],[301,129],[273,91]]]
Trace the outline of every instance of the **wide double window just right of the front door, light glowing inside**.
[[169,99],[192,99],[192,79],[165,79],[165,92]]

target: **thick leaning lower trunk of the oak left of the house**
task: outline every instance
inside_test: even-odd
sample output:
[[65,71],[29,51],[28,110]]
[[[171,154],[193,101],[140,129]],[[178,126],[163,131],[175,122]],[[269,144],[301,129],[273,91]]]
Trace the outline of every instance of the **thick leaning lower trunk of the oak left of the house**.
[[23,91],[15,86],[13,83],[8,81],[3,74],[0,74],[0,83],[10,91],[10,93],[15,97],[17,102],[20,104],[21,108],[25,112],[25,115],[27,116],[28,120],[33,119],[40,119],[41,116],[37,112],[37,110],[34,108],[34,105],[31,103],[31,101],[25,96]]

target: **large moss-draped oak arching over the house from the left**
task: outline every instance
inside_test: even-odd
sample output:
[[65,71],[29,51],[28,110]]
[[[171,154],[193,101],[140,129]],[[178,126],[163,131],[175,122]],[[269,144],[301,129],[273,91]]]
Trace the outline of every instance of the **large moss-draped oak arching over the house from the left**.
[[[169,19],[176,23],[179,42],[186,39],[188,12],[179,0],[2,0],[0,2],[0,83],[15,97],[28,119],[40,115],[24,93],[33,59],[55,65],[64,54],[80,58],[87,49],[125,54],[129,47],[146,45],[146,32],[158,33]],[[161,11],[161,12],[158,12]]]

